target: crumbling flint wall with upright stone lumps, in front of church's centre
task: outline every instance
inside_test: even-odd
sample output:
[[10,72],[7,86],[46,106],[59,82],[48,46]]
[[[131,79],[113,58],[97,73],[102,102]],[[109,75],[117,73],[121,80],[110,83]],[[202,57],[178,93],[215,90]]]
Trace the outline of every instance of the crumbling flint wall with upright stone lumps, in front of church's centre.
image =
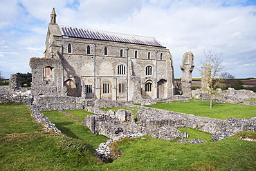
[[[175,139],[183,137],[183,132],[172,128],[168,125],[147,128],[136,124],[134,121],[122,121],[124,118],[122,114],[124,110],[118,110],[115,114],[113,110],[104,112],[102,114],[89,114],[84,119],[84,126],[87,126],[94,134],[103,134],[114,141],[125,137],[136,138],[143,135],[151,135],[158,139]],[[133,117],[131,111],[125,111],[126,117]]]

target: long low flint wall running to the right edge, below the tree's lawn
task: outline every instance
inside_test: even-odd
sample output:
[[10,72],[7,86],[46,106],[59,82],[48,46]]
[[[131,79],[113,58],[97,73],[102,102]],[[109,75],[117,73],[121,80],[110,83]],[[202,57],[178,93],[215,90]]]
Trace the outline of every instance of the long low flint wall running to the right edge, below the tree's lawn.
[[155,112],[149,110],[139,110],[136,113],[137,119],[140,120],[141,124],[147,128],[157,128],[159,126],[168,125],[174,128],[198,128],[203,132],[208,132],[211,134],[227,131],[231,133],[244,130],[256,131],[255,118],[229,118],[226,120],[221,120],[166,110],[154,109],[154,111]]

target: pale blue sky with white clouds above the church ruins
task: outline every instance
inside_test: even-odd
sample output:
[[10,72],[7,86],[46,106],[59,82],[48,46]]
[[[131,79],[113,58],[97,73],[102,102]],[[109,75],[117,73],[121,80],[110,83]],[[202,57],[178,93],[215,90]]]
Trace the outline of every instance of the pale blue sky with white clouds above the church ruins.
[[255,0],[1,0],[3,77],[30,72],[29,59],[43,57],[53,7],[60,25],[156,37],[174,57],[176,78],[185,52],[199,68],[208,50],[223,53],[236,78],[256,77]]

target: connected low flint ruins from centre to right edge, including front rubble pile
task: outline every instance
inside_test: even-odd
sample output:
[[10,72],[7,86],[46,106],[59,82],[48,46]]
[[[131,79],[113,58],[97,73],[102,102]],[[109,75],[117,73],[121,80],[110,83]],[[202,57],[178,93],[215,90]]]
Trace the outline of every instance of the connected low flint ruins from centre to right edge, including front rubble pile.
[[[120,109],[117,112],[97,112],[90,114],[84,119],[84,126],[87,126],[94,134],[103,134],[111,140],[101,143],[96,157],[107,161],[111,157],[109,145],[113,141],[125,138],[138,138],[143,135],[150,135],[157,139],[172,140],[178,137],[188,137],[188,132],[181,132],[177,128],[188,127],[208,132],[212,135],[211,142],[219,141],[234,135],[236,132],[251,130],[256,131],[256,117],[251,119],[226,120],[212,119],[207,117],[194,116],[181,112],[172,112],[155,108],[148,108],[143,105],[129,105],[132,108],[140,108],[136,112],[134,121],[131,111]],[[204,143],[201,139],[181,139],[177,143]]]

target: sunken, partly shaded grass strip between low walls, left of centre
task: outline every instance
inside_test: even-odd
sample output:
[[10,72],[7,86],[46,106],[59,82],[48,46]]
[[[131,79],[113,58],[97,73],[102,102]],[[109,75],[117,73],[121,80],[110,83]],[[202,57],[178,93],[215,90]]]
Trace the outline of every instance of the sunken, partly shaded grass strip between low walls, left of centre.
[[93,134],[91,130],[84,127],[82,123],[76,123],[73,119],[66,117],[65,114],[57,110],[42,111],[42,113],[48,117],[51,122],[55,123],[56,127],[61,130],[62,133],[74,139],[81,139],[91,145],[92,148],[97,148],[100,143],[106,142],[107,139],[109,139],[103,135]]

